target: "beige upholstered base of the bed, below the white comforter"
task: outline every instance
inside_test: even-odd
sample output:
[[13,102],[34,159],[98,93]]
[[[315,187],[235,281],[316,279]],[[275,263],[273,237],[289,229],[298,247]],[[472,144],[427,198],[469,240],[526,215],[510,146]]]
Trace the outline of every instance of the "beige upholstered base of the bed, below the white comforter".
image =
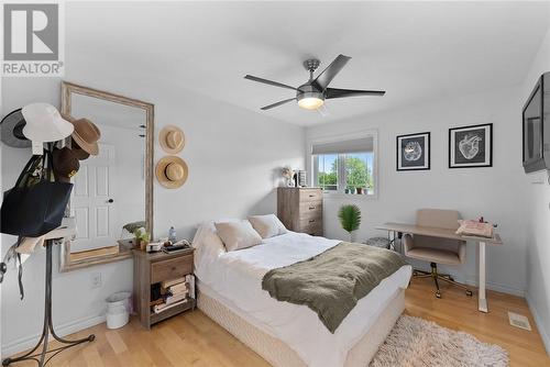
[[[200,292],[200,288],[198,289],[198,308],[271,365],[275,367],[307,367],[307,364],[290,346],[250,324],[217,299]],[[405,290],[399,289],[388,301],[378,320],[350,349],[344,367],[369,366],[404,310]]]

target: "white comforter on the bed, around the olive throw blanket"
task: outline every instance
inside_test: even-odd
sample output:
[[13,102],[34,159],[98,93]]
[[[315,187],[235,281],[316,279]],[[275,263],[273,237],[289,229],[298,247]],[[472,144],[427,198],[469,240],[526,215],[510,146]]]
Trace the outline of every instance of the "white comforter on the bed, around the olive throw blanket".
[[198,257],[199,289],[207,294],[209,288],[216,291],[223,298],[219,301],[285,342],[308,366],[343,366],[348,352],[373,325],[388,300],[399,288],[407,287],[410,266],[402,267],[361,299],[334,334],[306,305],[279,302],[262,289],[262,278],[270,269],[307,259],[338,243],[340,241],[289,232],[251,248],[220,253],[215,258]]

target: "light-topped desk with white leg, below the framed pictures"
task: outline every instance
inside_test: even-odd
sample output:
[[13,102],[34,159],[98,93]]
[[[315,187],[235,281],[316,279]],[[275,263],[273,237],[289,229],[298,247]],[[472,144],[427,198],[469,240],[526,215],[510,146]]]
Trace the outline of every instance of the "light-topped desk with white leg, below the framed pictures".
[[436,229],[430,226],[421,226],[421,225],[404,224],[404,223],[384,223],[382,225],[378,225],[376,230],[393,232],[394,238],[396,233],[409,233],[422,236],[450,238],[450,240],[466,241],[466,242],[471,241],[473,243],[476,243],[480,254],[477,310],[480,310],[481,312],[488,312],[486,290],[485,290],[485,245],[503,245],[503,242],[498,234],[495,233],[493,235],[493,238],[461,236],[454,233],[455,231],[453,230]]

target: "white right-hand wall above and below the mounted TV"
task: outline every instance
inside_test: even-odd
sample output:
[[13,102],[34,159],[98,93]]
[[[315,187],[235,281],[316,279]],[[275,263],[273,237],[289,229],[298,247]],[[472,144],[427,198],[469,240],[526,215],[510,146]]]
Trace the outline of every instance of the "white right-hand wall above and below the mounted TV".
[[[521,111],[538,78],[547,71],[550,71],[550,30],[526,77],[516,110]],[[546,86],[546,88],[549,90],[550,87]],[[550,185],[548,173],[526,175],[525,181],[529,208],[527,301],[550,354]]]

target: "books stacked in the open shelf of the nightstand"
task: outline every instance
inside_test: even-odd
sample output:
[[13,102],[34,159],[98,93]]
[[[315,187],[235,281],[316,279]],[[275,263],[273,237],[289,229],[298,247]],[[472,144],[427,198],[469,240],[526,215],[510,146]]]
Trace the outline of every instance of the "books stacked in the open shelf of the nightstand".
[[195,276],[165,280],[161,283],[161,297],[153,302],[153,312],[161,313],[195,299]]

